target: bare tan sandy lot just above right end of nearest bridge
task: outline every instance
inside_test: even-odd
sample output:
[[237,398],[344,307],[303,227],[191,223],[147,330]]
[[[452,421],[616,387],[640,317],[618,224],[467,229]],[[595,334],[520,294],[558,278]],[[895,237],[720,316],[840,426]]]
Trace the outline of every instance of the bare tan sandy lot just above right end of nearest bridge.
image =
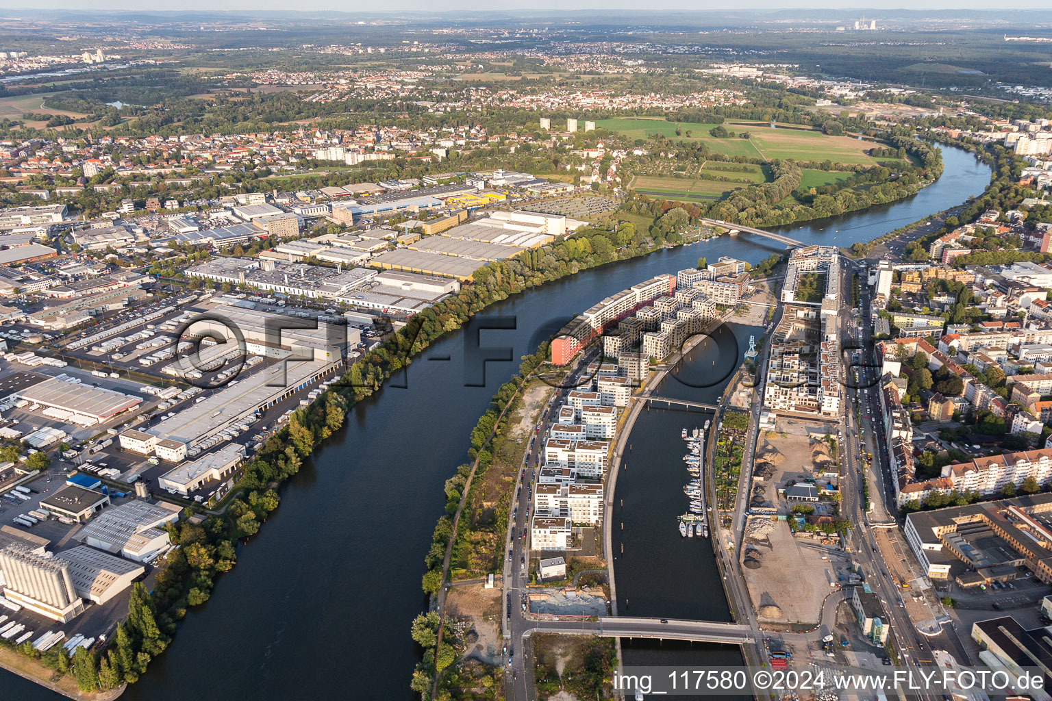
[[745,580],[758,620],[816,623],[822,602],[836,581],[831,548],[793,537],[786,521],[749,517],[743,545]]

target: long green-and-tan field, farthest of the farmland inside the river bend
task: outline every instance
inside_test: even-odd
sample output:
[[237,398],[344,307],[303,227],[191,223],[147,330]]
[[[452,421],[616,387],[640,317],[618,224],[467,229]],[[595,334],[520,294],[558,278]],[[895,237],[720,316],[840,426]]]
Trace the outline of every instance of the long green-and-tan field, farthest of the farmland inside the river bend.
[[[655,118],[618,118],[600,120],[595,126],[618,131],[632,139],[646,139],[663,135],[671,140],[704,141],[713,153],[745,156],[765,161],[774,159],[795,159],[797,161],[833,161],[834,163],[861,163],[873,165],[876,160],[864,151],[872,148],[872,142],[858,141],[850,137],[829,137],[821,131],[770,128],[761,123],[725,125],[729,131],[748,131],[751,140],[731,137],[716,139],[709,133],[715,124],[693,124],[687,122],[666,122]],[[681,136],[675,136],[676,127]],[[690,131],[690,137],[687,131]]]

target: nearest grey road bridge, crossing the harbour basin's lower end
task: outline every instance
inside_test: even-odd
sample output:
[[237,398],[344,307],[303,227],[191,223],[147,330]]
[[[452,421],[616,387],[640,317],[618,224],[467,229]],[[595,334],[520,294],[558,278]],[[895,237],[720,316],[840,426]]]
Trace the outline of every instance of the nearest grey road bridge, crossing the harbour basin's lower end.
[[[663,622],[666,621],[666,622]],[[528,633],[560,635],[599,635],[606,638],[653,638],[693,640],[728,645],[752,644],[755,639],[748,625],[714,621],[685,621],[664,618],[604,616],[598,621],[535,621]]]

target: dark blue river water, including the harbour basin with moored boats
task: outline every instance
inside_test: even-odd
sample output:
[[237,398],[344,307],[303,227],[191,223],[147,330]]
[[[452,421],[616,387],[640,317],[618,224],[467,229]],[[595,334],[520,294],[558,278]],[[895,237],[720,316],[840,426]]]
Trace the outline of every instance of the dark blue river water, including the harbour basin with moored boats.
[[[989,182],[990,169],[966,151],[946,148],[944,161],[938,182],[907,201],[784,230],[805,243],[850,245],[959,204]],[[772,241],[744,234],[587,270],[515,295],[480,316],[514,316],[513,330],[480,330],[477,322],[437,343],[412,363],[407,377],[394,380],[403,387],[389,385],[359,403],[346,427],[285,484],[281,508],[238,550],[234,571],[219,578],[205,605],[187,614],[171,646],[122,698],[411,700],[409,676],[418,652],[409,623],[426,605],[420,578],[431,530],[444,513],[443,483],[467,460],[470,430],[519,365],[486,363],[485,386],[471,386],[482,383],[478,364],[465,368],[466,339],[478,337],[484,348],[510,347],[519,358],[571,314],[640,281],[693,267],[702,255],[756,262],[782,250]],[[748,329],[735,329],[742,334],[747,342]],[[699,376],[706,374],[704,364],[691,366],[701,368]],[[719,385],[673,388],[673,383],[670,394],[715,396],[722,390]],[[644,414],[633,432],[632,454],[647,445],[664,450],[668,459],[654,463],[667,462],[668,479],[682,482],[686,471],[679,456],[685,445],[679,427],[688,424],[675,422],[682,412],[664,413],[674,420],[663,420],[656,410]],[[683,420],[696,425],[693,416]],[[681,538],[675,530],[674,515],[687,506],[682,490],[652,480],[654,491],[648,492],[634,479],[643,466],[635,472],[628,459],[616,494],[625,495],[625,513],[614,513],[614,521],[625,520],[623,535],[615,531],[614,539],[615,552],[621,538],[625,544],[625,559],[615,563],[619,599],[629,598],[625,613],[727,620],[711,549]],[[666,487],[659,492],[660,482]],[[644,508],[648,504],[652,508]],[[647,540],[651,530],[660,539]],[[677,660],[740,659],[727,648],[668,648],[676,651]],[[672,663],[661,661],[668,659],[664,655],[653,645],[627,645],[626,664]],[[0,697],[20,701],[59,698],[6,672],[0,673]]]

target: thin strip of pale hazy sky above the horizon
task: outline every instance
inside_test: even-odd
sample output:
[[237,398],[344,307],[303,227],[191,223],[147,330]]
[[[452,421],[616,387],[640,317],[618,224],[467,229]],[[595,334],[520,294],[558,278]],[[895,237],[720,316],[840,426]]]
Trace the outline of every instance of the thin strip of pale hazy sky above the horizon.
[[[1040,3],[1037,3],[1039,5]],[[735,12],[740,9],[787,9],[790,7],[806,8],[830,8],[855,12],[862,9],[878,9],[888,12],[898,8],[911,11],[925,9],[997,9],[1006,8],[1039,8],[1034,3],[1025,3],[1021,0],[1007,0],[995,5],[989,0],[888,0],[879,2],[877,0],[796,0],[785,2],[778,0],[737,0],[729,5],[726,0],[651,0],[646,3],[650,9],[681,9],[681,11],[706,11]],[[399,11],[424,11],[424,12],[449,12],[449,11],[513,11],[527,7],[530,11],[544,9],[639,9],[639,0],[447,0],[439,3],[436,0],[388,0],[382,4],[375,2],[363,2],[362,0],[313,0],[306,11],[339,11],[345,13],[356,12],[386,12],[398,13]],[[155,5],[143,3],[142,0],[38,0],[33,3],[26,0],[0,0],[0,8],[14,9],[105,9],[105,11],[132,11],[132,12],[158,12],[158,11],[290,11],[296,9],[288,0],[181,0],[178,6]],[[643,20],[644,13],[640,13]]]

